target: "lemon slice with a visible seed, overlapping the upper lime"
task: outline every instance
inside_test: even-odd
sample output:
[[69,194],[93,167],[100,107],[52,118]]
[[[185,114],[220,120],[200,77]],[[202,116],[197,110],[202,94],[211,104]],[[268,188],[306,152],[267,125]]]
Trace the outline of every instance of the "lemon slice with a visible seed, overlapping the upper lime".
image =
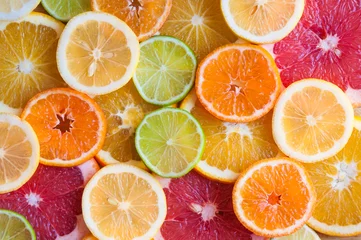
[[91,95],[124,86],[139,61],[133,31],[113,15],[86,12],[72,18],[60,36],[57,64],[72,88]]

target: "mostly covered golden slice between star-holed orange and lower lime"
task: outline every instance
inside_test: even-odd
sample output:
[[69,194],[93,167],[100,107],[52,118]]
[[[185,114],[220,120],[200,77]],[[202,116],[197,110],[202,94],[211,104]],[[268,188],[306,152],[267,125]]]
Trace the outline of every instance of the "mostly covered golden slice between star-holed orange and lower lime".
[[142,163],[135,149],[135,129],[144,116],[157,107],[142,99],[133,81],[94,100],[103,109],[107,120],[107,135],[102,149],[96,155],[97,160],[103,165],[131,160]]

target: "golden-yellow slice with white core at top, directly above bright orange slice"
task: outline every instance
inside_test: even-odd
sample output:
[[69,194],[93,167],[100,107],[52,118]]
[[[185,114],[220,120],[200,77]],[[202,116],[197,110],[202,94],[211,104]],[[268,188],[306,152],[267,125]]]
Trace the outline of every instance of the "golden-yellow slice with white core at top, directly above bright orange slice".
[[220,0],[173,0],[160,33],[185,42],[198,60],[237,39],[222,16]]

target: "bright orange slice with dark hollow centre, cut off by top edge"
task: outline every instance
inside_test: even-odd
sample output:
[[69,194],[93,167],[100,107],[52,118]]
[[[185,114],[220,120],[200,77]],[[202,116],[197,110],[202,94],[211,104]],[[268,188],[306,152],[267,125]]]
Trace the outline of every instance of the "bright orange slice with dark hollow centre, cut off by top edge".
[[139,41],[152,37],[164,24],[172,0],[91,0],[92,9],[113,14],[126,22]]

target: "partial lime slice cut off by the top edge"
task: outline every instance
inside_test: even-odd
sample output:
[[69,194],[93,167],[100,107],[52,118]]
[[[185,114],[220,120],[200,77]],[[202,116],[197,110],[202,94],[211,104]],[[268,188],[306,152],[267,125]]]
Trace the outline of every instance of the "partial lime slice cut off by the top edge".
[[63,22],[91,11],[90,0],[41,0],[41,4],[51,16]]

